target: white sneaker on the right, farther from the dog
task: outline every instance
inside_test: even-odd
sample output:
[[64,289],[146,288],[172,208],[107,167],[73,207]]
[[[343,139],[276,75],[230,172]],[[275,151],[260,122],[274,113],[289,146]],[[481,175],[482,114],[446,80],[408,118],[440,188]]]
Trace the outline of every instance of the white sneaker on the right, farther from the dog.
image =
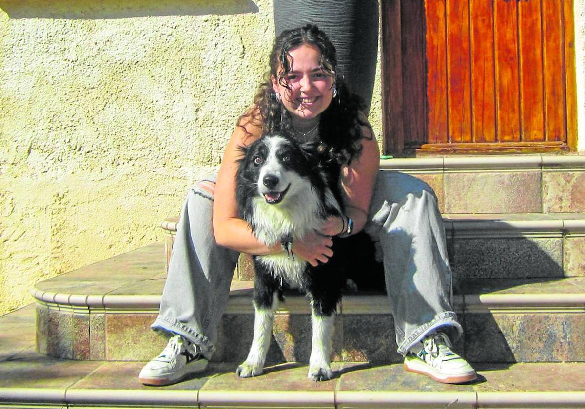
[[451,350],[453,345],[443,332],[435,332],[414,346],[404,357],[404,366],[410,372],[422,373],[438,382],[463,383],[477,377],[475,369]]

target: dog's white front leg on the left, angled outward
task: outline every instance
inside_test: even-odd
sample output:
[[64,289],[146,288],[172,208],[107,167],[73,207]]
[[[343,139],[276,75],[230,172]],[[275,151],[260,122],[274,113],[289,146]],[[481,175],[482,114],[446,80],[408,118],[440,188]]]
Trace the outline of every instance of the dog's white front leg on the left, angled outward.
[[[270,301],[266,306],[265,301]],[[274,311],[278,307],[277,292],[271,294],[271,299],[264,299],[263,303],[254,301],[254,339],[246,361],[238,366],[236,373],[242,378],[262,375],[264,372],[264,361],[270,346],[272,326],[274,324]]]

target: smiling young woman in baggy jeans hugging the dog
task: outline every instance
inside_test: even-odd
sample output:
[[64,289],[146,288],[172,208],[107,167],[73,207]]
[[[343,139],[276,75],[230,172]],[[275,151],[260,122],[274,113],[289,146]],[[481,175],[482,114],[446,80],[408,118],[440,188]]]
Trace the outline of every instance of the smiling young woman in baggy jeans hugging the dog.
[[238,121],[216,180],[199,182],[187,196],[177,226],[167,282],[154,330],[170,337],[163,352],[140,372],[144,384],[169,384],[199,372],[215,351],[218,325],[240,252],[283,251],[256,240],[239,219],[235,175],[239,148],[262,134],[286,132],[318,143],[322,164],[337,179],[345,217],[331,217],[314,234],[292,244],[312,265],[333,252],[333,235],[366,231],[378,242],[398,352],[412,372],[439,382],[475,379],[452,351],[462,332],[451,306],[451,271],[436,196],[426,183],[379,171],[373,131],[336,72],[335,47],[316,26],[281,33],[270,72],[252,108]]

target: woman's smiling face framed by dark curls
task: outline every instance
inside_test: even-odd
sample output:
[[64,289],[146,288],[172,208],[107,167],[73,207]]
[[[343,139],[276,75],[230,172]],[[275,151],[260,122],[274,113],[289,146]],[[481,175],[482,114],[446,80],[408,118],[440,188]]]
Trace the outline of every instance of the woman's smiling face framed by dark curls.
[[[274,92],[280,94],[284,107],[292,114],[298,129],[311,127],[313,120],[333,99],[333,77],[321,67],[321,53],[311,44],[302,44],[288,53],[290,71],[271,77]],[[279,67],[278,72],[282,71]]]

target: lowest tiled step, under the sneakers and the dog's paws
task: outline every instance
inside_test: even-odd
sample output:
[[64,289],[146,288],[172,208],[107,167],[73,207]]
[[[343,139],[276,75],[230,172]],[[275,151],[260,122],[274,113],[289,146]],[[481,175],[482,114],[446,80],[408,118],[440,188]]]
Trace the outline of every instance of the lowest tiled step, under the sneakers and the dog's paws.
[[[270,364],[239,379],[212,362],[166,387],[140,384],[144,362],[71,361],[35,351],[35,306],[0,317],[0,408],[583,408],[585,363],[478,363],[479,379],[449,385],[401,364],[334,362],[316,383],[307,365]],[[136,348],[142,345],[136,344]]]

